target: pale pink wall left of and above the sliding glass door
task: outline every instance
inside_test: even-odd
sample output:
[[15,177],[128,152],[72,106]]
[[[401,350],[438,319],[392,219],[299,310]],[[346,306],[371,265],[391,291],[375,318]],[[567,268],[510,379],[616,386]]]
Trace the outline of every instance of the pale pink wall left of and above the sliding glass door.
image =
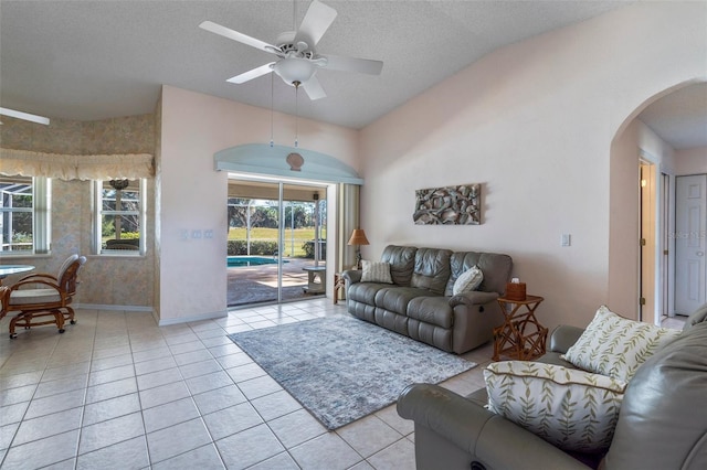
[[[275,115],[277,136],[295,135],[295,119]],[[213,153],[270,141],[271,111],[170,86],[162,88],[158,245],[160,324],[225,314],[226,173]],[[276,142],[291,145],[289,142]],[[355,130],[299,120],[302,148],[358,168]],[[286,156],[283,156],[283,159]],[[193,231],[213,238],[192,238]],[[188,239],[182,238],[187,232]]]

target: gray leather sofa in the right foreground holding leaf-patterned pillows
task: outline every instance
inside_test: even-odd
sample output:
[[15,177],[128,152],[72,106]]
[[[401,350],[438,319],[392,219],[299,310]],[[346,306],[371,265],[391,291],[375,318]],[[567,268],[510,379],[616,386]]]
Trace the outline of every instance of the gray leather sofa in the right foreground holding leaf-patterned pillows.
[[[485,388],[463,397],[436,385],[408,387],[398,414],[414,420],[418,469],[707,469],[706,317],[704,306],[678,339],[639,367],[605,455],[567,453],[485,409]],[[582,331],[558,327],[539,361],[572,367],[560,354]]]

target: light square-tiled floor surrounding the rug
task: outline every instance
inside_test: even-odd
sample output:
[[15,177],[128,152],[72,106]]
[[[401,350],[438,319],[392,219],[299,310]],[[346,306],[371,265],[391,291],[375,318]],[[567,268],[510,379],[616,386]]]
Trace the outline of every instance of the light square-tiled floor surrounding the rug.
[[[414,469],[395,407],[327,431],[226,337],[346,314],[328,299],[234,310],[159,328],[152,316],[81,309],[64,334],[0,322],[3,469]],[[484,385],[479,366],[443,385]]]

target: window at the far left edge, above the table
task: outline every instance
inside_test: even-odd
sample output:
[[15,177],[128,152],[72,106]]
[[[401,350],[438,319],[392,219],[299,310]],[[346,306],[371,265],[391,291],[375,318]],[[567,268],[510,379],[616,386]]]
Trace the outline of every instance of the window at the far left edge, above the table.
[[50,248],[48,178],[0,175],[1,253],[33,255]]

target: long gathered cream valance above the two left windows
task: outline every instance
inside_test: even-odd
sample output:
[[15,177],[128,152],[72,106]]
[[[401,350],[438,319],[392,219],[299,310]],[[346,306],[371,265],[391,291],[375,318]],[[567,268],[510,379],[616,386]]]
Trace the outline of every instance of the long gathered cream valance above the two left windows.
[[60,180],[116,180],[151,178],[149,153],[71,156],[0,149],[0,174],[46,177]]

